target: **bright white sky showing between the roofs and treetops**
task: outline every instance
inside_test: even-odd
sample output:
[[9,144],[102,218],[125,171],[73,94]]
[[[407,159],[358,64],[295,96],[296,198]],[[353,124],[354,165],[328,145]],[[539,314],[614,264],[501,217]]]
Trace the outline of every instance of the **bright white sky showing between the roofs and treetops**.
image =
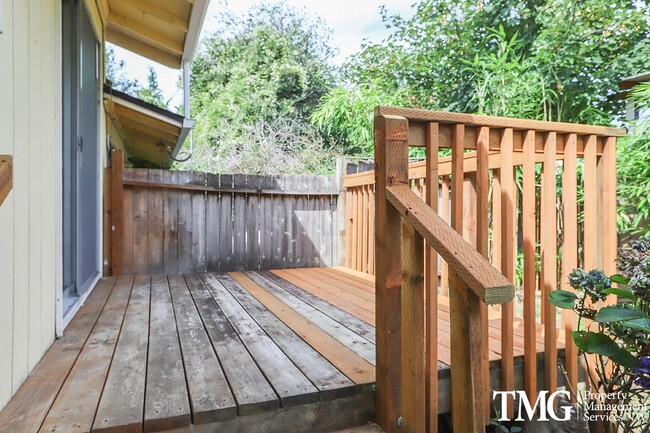
[[[218,29],[218,15],[229,11],[243,15],[260,0],[210,0],[201,38]],[[341,65],[345,59],[354,54],[367,39],[379,42],[388,35],[381,22],[379,7],[385,5],[392,14],[410,16],[414,0],[285,0],[287,4],[304,9],[308,15],[321,17],[332,29],[331,46],[338,49],[333,59],[335,65]],[[179,71],[152,62],[120,47],[115,47],[116,58],[126,62],[127,76],[141,83],[147,82],[148,68],[156,69],[158,81],[165,99],[172,100],[171,106],[182,101],[182,91],[177,89]]]

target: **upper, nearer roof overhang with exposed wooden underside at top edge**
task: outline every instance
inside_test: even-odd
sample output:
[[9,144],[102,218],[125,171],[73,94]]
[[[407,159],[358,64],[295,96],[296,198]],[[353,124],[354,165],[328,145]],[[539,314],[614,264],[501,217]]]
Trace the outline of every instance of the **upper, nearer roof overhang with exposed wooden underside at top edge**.
[[108,0],[106,39],[180,69],[198,44],[209,0]]

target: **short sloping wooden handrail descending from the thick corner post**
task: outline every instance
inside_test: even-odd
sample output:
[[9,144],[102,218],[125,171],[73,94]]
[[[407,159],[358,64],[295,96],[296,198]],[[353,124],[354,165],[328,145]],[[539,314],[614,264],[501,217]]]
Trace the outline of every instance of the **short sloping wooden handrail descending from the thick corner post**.
[[386,198],[479,299],[486,304],[505,304],[514,298],[512,283],[409,186],[386,187]]

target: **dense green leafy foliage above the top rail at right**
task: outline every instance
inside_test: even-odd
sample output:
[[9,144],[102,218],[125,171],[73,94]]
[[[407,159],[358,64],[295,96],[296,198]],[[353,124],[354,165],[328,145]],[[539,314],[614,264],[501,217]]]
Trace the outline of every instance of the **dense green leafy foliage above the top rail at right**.
[[610,123],[624,109],[611,97],[618,81],[650,69],[643,1],[422,0],[411,18],[382,9],[382,19],[392,34],[344,67],[354,90],[327,100],[341,112],[373,83],[372,93],[399,92],[413,107]]

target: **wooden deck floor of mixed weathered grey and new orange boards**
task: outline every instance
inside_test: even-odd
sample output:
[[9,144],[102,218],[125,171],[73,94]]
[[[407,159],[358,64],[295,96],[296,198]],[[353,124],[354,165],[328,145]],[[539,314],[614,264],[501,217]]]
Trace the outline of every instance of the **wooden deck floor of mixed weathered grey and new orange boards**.
[[[450,409],[446,301],[441,412]],[[1,430],[299,433],[362,425],[374,417],[374,310],[373,277],[345,268],[107,278],[0,412]],[[500,320],[491,314],[498,382]],[[515,329],[520,358],[523,330]],[[540,328],[540,352],[542,345]]]

